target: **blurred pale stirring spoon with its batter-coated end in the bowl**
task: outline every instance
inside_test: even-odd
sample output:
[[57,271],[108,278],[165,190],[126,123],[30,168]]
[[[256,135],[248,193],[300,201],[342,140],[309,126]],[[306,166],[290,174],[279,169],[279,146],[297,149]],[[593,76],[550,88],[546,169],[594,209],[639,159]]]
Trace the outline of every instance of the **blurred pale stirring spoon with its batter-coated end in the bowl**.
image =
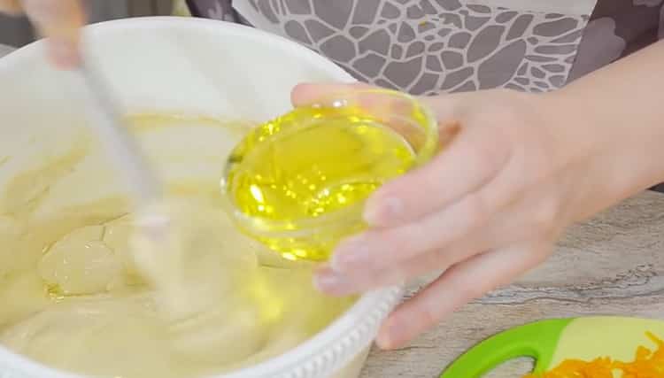
[[[234,266],[228,263],[234,259],[242,262],[248,257],[220,253],[225,238],[206,224],[205,217],[198,220],[205,208],[163,197],[162,183],[128,133],[111,91],[104,85],[104,77],[84,59],[78,73],[92,102],[89,111],[93,122],[89,125],[124,174],[131,191],[136,211],[132,255],[144,278],[160,294],[158,311],[179,324],[180,320],[213,310],[215,304],[232,303],[228,295],[224,296],[227,291],[222,288],[234,286],[228,281],[239,283],[239,278],[232,277],[234,272],[205,271],[200,266]],[[194,269],[197,274],[188,275],[192,266],[199,266],[198,270]],[[236,270],[248,273],[253,265],[244,261],[240,266],[243,268]]]

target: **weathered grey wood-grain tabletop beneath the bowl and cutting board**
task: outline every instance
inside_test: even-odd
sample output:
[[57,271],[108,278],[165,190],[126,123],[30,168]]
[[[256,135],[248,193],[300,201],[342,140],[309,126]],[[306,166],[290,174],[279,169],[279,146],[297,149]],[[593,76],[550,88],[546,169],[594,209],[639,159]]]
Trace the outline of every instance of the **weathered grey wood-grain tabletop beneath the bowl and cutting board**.
[[[501,330],[585,315],[664,318],[664,194],[645,192],[570,228],[552,258],[512,286],[467,305],[404,350],[372,351],[362,378],[435,378]],[[488,377],[521,377],[531,367],[516,360]]]

